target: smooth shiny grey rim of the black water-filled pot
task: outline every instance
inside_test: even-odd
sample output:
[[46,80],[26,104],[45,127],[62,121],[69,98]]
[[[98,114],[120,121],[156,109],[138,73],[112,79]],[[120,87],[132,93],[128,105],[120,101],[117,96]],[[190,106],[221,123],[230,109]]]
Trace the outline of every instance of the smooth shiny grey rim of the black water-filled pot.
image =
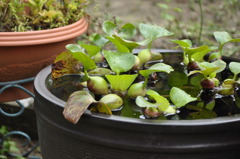
[[[180,53],[179,50],[159,50],[153,49],[162,52],[174,52]],[[137,50],[135,50],[137,52]],[[45,81],[48,75],[51,73],[51,66],[47,66],[43,70],[41,70],[34,80],[34,88],[42,97],[46,100],[54,103],[56,106],[64,108],[66,102],[54,96],[46,87]],[[232,122],[240,121],[240,114],[234,116],[227,117],[218,117],[214,119],[197,119],[197,120],[148,120],[148,119],[137,119],[137,118],[129,118],[129,117],[121,117],[117,115],[105,115],[90,112],[87,110],[85,115],[91,116],[93,118],[99,118],[103,120],[111,120],[125,123],[135,123],[135,124],[147,124],[147,125],[165,125],[165,126],[211,126],[211,125],[220,125],[227,124]],[[80,119],[81,120],[81,119]]]

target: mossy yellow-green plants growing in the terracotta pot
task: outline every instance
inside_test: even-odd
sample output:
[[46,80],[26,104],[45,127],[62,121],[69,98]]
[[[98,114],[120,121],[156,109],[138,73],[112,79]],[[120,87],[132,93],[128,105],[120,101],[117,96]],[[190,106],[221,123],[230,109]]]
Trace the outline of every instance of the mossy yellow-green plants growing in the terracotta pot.
[[1,0],[0,32],[42,30],[76,22],[89,0]]

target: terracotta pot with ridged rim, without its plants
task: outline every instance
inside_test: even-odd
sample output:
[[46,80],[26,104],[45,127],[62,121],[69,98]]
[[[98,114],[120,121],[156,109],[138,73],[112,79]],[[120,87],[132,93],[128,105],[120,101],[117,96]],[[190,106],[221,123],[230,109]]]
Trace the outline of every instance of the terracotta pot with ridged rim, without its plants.
[[[87,28],[88,21],[82,18],[71,25],[54,29],[0,32],[0,82],[34,77]],[[31,87],[32,84],[27,86],[32,90]],[[15,100],[14,94],[18,99],[25,97],[22,91],[5,91],[0,96],[0,102]]]

